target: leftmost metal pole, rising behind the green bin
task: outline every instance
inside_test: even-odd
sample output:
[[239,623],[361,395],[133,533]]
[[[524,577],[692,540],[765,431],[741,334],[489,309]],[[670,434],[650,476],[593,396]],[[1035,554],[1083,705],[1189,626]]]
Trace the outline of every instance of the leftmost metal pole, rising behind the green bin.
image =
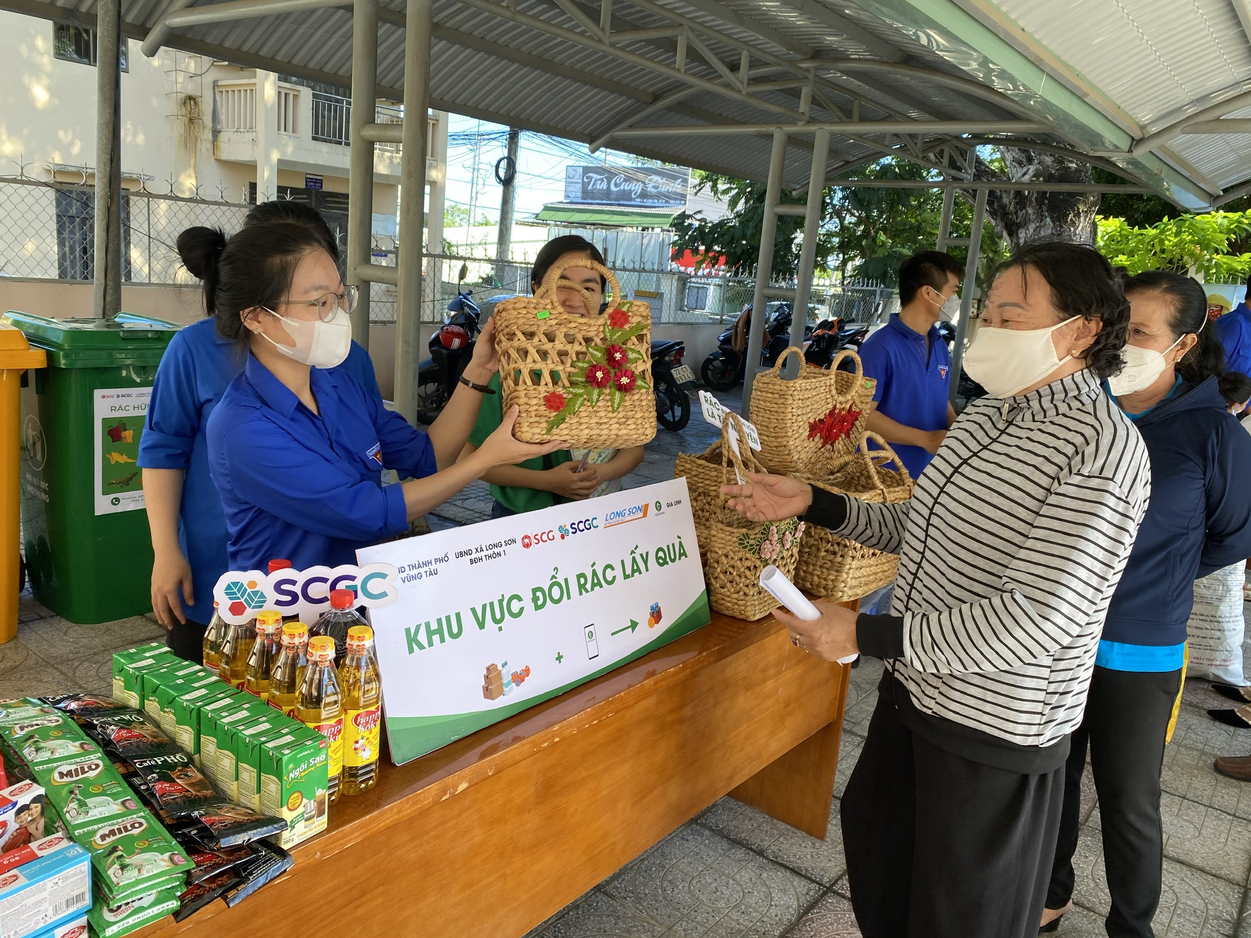
[[96,319],[121,311],[121,0],[96,6],[95,296]]

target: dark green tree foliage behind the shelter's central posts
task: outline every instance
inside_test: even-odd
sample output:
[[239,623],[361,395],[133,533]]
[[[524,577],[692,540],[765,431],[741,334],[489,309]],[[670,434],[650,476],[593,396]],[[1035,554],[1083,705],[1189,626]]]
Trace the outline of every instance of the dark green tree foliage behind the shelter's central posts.
[[[928,179],[928,170],[907,160],[886,159],[847,174],[847,179]],[[678,215],[674,248],[704,256],[722,256],[738,273],[754,270],[761,250],[764,184],[696,171],[697,190],[708,189],[724,199],[729,214],[717,221],[699,213]],[[804,196],[782,193],[783,203],[803,204]],[[972,224],[972,206],[957,198],[952,231],[962,235]],[[818,270],[842,278],[863,276],[894,285],[899,263],[918,250],[932,249],[938,239],[942,191],[938,189],[872,189],[831,185],[824,191],[817,240]],[[794,276],[799,266],[803,219],[778,218],[773,248],[773,274]],[[965,248],[951,253],[965,258]],[[993,266],[1005,249],[987,226],[982,235],[980,270]]]

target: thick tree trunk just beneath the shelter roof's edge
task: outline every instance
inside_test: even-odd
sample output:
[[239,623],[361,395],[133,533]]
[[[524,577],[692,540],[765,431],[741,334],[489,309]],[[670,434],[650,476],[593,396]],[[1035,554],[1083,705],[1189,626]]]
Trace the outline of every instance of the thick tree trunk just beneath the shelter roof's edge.
[[[1091,183],[1091,169],[1068,156],[1038,150],[1001,146],[1007,175],[977,161],[977,179],[1007,179],[1013,183]],[[1098,193],[1046,193],[991,190],[986,201],[996,233],[1012,250],[1033,241],[1095,243],[1095,213]]]

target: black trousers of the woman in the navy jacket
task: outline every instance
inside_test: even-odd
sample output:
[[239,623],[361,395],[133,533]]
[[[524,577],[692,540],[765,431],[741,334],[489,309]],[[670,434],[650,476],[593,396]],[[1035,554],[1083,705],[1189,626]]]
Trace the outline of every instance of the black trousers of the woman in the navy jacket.
[[1095,668],[1086,715],[1073,733],[1047,908],[1063,908],[1073,895],[1073,852],[1081,825],[1082,770],[1088,744],[1098,792],[1103,867],[1112,894],[1105,927],[1112,938],[1153,935],[1151,919],[1160,904],[1163,867],[1160,770],[1180,683],[1180,669]]

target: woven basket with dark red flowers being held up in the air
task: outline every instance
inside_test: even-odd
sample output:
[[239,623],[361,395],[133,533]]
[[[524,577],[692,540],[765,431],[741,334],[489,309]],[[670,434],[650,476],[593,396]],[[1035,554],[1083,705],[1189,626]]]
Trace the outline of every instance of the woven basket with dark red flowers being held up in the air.
[[[560,278],[567,268],[595,270],[608,280],[607,313],[564,310],[557,291],[580,290]],[[590,309],[593,298],[582,294]],[[622,301],[612,270],[589,258],[553,264],[533,296],[507,299],[494,315],[504,409],[519,408],[517,439],[626,449],[656,435],[652,310],[641,300]]]

